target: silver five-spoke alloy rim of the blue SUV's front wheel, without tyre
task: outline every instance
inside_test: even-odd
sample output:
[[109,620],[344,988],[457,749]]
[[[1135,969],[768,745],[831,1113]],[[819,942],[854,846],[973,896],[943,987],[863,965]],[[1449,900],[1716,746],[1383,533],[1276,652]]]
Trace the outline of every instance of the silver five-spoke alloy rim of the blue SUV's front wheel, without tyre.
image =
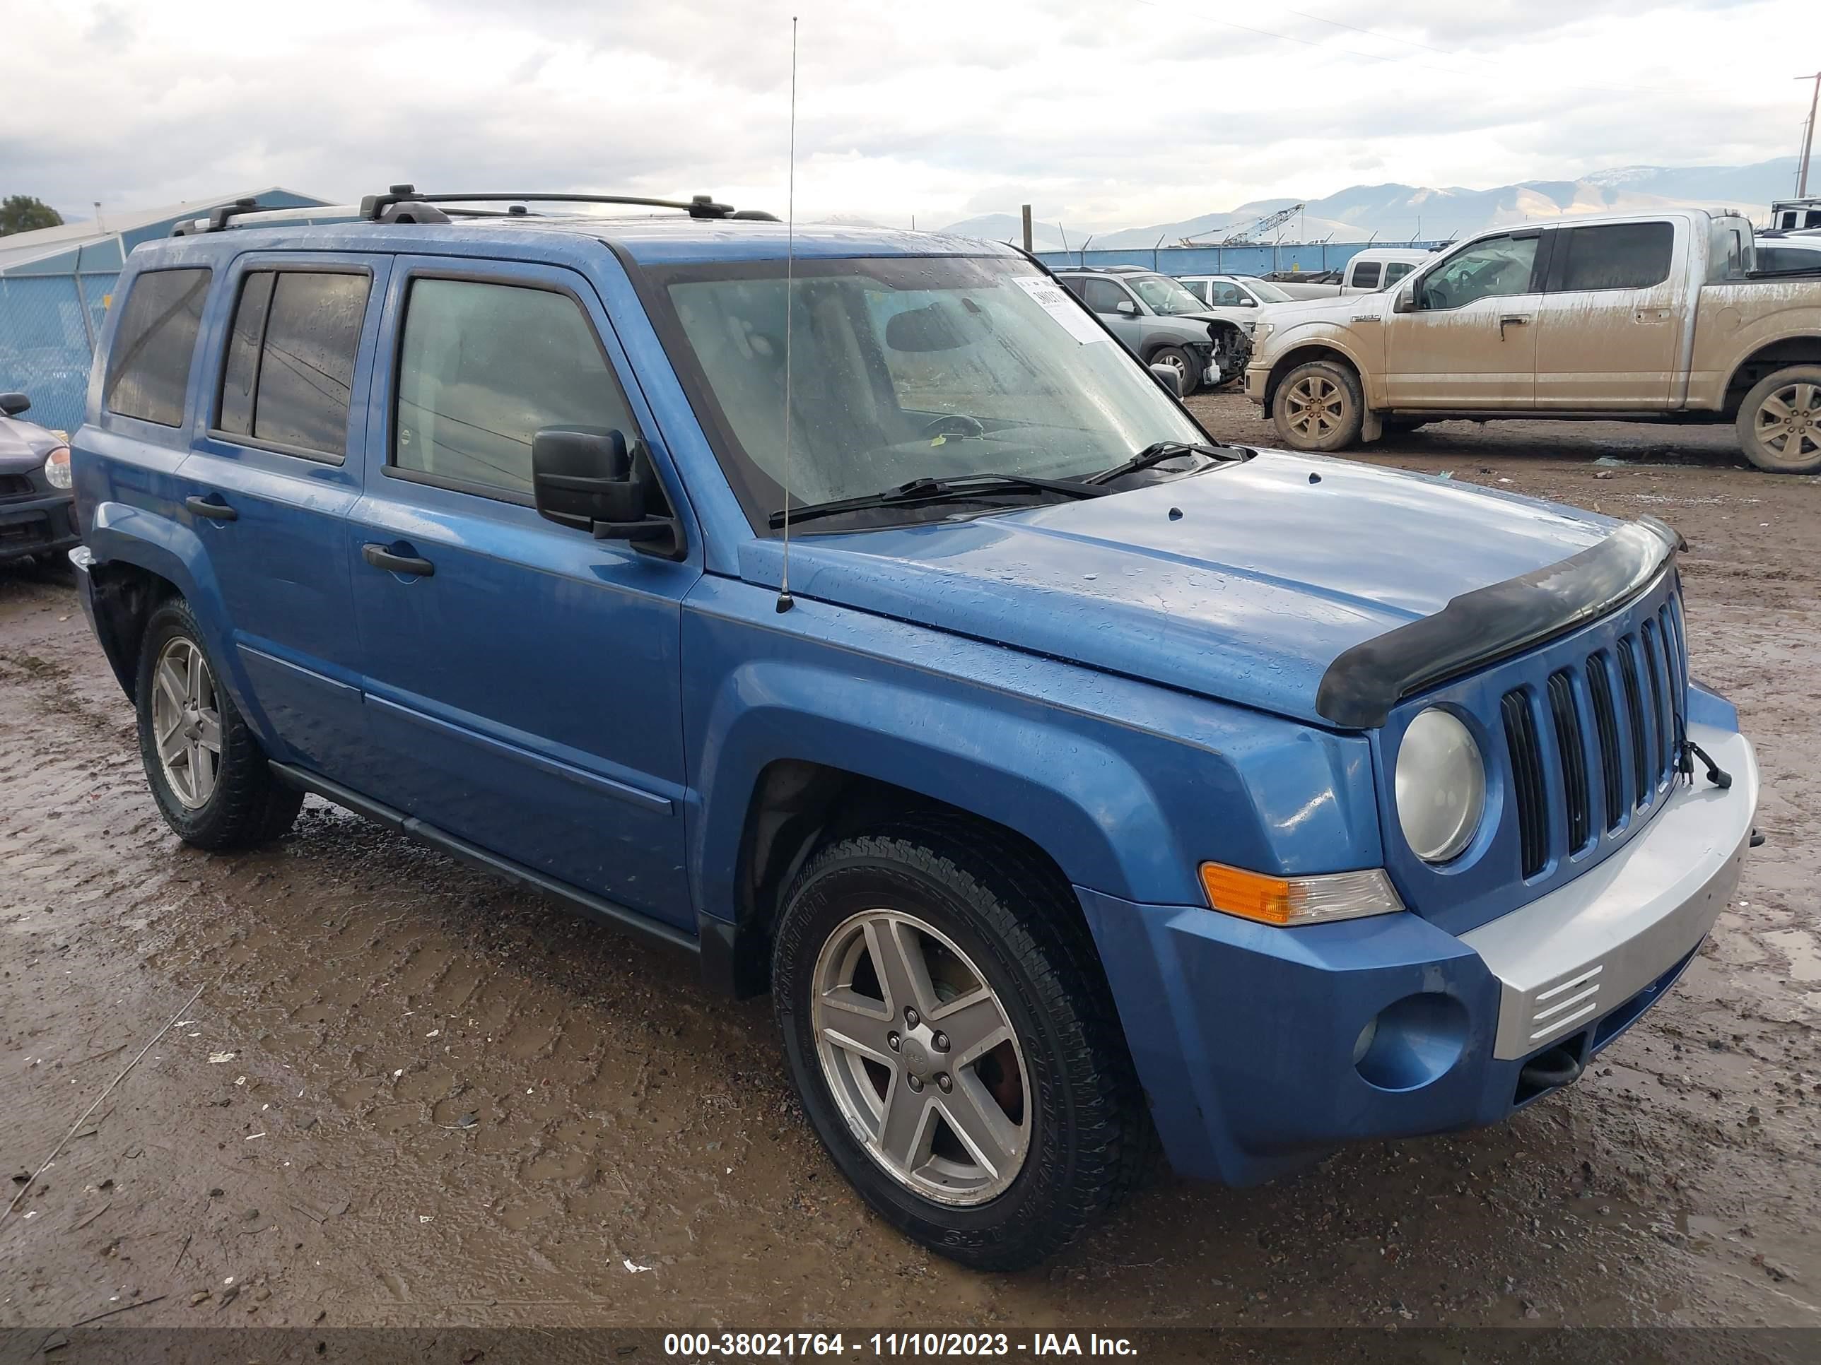
[[816,957],[823,1079],[867,1154],[943,1205],[1003,1194],[1031,1150],[1016,1030],[952,939],[900,910],[843,921]]

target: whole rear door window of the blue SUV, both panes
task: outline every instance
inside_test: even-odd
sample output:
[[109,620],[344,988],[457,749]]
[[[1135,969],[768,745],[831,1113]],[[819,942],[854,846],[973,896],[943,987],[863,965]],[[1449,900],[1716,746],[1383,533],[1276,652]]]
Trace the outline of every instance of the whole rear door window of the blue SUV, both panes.
[[304,455],[346,455],[368,291],[359,273],[248,271],[228,333],[219,430]]

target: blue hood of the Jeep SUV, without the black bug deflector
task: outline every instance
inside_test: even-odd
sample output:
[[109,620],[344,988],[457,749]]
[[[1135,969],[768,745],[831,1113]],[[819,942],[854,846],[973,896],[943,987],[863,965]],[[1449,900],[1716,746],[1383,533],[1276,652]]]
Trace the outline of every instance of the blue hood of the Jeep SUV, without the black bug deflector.
[[[1180,515],[1178,515],[1180,513]],[[790,590],[1328,724],[1342,652],[1557,564],[1608,517],[1369,464],[1246,464],[1029,511],[801,535]],[[741,550],[776,588],[781,546]]]

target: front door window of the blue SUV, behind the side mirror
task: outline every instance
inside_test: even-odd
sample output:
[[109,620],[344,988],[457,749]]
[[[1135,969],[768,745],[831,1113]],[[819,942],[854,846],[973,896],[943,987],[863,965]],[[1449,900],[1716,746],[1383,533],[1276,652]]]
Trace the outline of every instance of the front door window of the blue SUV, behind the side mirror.
[[413,280],[392,462],[530,497],[544,426],[637,426],[577,302],[550,289]]

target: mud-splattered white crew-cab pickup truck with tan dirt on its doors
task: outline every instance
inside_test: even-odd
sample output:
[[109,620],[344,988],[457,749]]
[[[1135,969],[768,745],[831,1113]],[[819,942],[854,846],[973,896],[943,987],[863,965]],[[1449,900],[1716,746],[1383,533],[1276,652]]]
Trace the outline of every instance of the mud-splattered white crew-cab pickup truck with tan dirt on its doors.
[[1484,233],[1395,289],[1284,304],[1246,395],[1337,451],[1446,417],[1735,422],[1763,470],[1821,470],[1821,271],[1755,275],[1739,215]]

